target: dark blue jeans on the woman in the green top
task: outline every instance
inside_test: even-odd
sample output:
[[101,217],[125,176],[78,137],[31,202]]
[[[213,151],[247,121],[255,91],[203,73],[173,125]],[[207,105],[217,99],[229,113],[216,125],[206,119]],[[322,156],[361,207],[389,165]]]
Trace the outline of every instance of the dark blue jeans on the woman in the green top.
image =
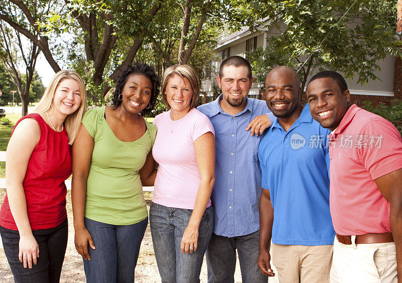
[[134,282],[134,270],[148,218],[132,225],[112,225],[84,218],[95,249],[88,245],[86,282]]

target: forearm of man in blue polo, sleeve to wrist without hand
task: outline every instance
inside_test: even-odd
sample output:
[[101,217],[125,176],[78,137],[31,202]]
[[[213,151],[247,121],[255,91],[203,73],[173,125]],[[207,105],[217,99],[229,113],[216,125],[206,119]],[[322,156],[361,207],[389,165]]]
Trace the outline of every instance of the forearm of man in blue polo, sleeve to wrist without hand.
[[[264,188],[262,190],[265,190]],[[272,224],[273,224],[273,207],[271,200],[263,197],[260,198],[259,204],[260,213],[260,242],[259,248],[268,250],[269,243],[272,236]]]

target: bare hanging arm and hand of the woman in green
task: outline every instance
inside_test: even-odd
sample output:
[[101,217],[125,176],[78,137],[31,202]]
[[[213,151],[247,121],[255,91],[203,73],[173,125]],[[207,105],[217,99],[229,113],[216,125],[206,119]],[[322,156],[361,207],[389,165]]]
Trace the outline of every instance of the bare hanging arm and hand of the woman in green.
[[84,259],[90,259],[88,243],[92,249],[95,249],[92,237],[84,225],[86,181],[92,158],[93,145],[93,137],[85,129],[85,126],[81,124],[72,145],[71,203],[75,230],[75,248]]

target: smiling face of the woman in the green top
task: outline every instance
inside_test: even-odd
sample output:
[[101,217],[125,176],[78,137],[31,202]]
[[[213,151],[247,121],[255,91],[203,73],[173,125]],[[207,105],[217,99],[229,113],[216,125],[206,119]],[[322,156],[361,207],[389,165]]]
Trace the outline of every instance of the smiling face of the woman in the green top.
[[152,82],[144,75],[131,74],[122,89],[121,106],[130,114],[138,114],[148,106],[151,99]]

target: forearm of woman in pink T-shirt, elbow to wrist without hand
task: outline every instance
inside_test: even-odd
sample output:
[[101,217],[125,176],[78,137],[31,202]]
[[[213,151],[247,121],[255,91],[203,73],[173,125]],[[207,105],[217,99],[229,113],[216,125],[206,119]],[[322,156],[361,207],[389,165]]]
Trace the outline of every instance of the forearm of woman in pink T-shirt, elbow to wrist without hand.
[[196,227],[198,229],[199,223],[203,218],[204,212],[207,208],[208,202],[211,198],[212,188],[214,187],[215,177],[211,176],[202,179],[198,186],[197,196],[195,198],[195,205],[192,211],[188,226]]

